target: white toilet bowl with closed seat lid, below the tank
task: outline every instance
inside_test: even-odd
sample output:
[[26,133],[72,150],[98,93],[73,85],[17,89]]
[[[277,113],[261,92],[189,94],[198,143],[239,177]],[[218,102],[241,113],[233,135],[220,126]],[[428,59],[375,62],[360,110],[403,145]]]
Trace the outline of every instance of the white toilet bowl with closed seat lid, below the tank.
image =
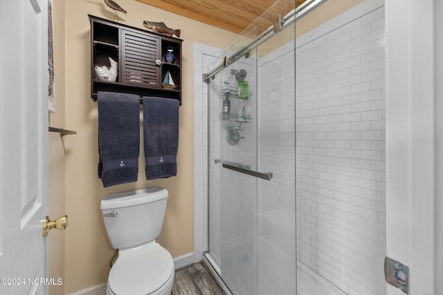
[[120,249],[111,267],[108,295],[163,294],[174,282],[174,260],[157,242]]

